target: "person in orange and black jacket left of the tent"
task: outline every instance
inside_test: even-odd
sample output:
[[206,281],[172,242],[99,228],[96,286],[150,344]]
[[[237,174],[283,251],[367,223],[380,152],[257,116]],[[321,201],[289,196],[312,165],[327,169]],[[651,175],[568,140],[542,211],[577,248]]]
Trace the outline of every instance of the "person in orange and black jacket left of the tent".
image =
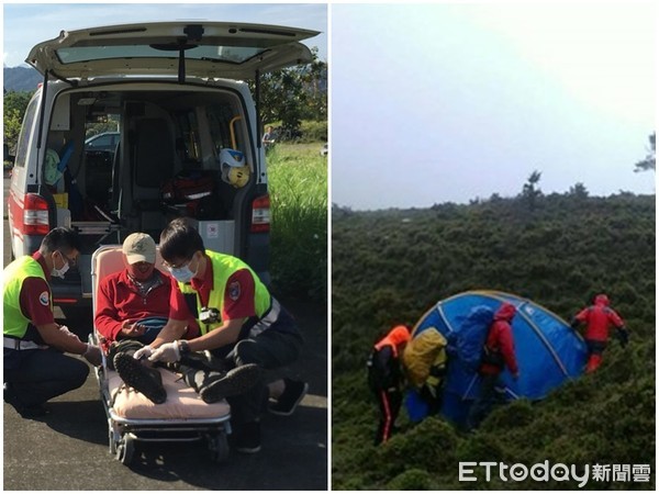
[[410,330],[395,326],[372,349],[368,362],[368,383],[380,408],[380,423],[375,445],[387,442],[393,434],[403,403],[402,352],[410,341]]

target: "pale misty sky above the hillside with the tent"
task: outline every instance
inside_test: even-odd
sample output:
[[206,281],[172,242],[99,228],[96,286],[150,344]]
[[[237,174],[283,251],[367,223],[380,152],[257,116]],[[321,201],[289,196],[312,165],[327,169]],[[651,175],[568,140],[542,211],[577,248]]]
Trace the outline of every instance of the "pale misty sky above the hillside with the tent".
[[634,1],[334,4],[332,202],[655,193],[657,8]]

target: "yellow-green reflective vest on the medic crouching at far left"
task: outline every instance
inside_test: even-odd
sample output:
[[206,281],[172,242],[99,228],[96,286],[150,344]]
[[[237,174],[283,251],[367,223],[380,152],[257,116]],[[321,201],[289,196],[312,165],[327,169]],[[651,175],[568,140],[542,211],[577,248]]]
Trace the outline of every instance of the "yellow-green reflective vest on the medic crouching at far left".
[[[11,262],[2,272],[2,334],[13,338],[23,338],[27,332],[30,319],[21,312],[21,288],[25,278],[42,278],[46,276],[38,261],[31,256],[23,256]],[[48,292],[51,311],[53,297]]]

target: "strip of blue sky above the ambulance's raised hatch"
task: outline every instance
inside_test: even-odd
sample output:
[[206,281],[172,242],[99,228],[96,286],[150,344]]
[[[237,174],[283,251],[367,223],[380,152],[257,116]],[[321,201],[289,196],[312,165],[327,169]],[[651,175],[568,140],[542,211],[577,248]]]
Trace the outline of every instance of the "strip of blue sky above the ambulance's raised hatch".
[[3,65],[23,65],[34,45],[57,37],[62,30],[170,20],[249,22],[320,31],[320,35],[303,43],[316,46],[319,57],[327,60],[327,7],[322,3],[3,2]]

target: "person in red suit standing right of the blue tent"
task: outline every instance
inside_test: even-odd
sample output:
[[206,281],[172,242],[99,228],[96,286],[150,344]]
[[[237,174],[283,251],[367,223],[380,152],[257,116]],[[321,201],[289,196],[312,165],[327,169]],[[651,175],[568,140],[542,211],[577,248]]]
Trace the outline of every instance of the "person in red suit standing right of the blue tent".
[[580,323],[585,323],[585,334],[583,338],[588,345],[587,372],[593,372],[602,363],[602,353],[608,343],[608,329],[611,326],[616,328],[616,337],[621,345],[625,347],[629,339],[629,332],[625,327],[622,317],[608,306],[608,296],[601,293],[595,296],[594,304],[585,307],[574,316],[570,326],[573,329],[579,327]]

